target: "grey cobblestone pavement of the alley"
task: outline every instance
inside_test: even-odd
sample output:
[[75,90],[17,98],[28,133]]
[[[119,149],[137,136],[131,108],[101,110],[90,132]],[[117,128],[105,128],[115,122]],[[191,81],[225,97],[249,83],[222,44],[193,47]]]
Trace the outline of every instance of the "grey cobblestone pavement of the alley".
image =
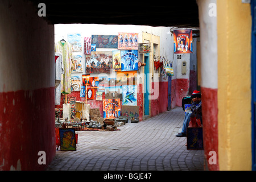
[[200,171],[204,151],[187,150],[181,130],[184,111],[170,111],[120,131],[76,131],[77,151],[56,151],[48,171]]

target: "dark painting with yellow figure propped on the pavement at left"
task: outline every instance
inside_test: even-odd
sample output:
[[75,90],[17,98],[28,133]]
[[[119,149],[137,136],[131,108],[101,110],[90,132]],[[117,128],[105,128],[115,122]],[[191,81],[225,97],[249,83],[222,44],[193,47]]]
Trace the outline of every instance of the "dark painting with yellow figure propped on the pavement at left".
[[75,129],[60,128],[60,150],[76,151],[76,133]]

